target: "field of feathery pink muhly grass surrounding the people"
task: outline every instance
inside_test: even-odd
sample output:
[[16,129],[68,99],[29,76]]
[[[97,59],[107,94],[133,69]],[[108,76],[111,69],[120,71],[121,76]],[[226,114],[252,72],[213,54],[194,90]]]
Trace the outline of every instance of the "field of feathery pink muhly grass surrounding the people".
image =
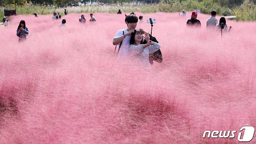
[[[256,22],[227,20],[229,33],[186,28],[178,13],[156,18],[163,62],[150,71],[119,62],[112,39],[124,14],[13,16],[0,29],[0,143],[238,143],[256,127]],[[217,16],[219,19],[220,17]],[[30,30],[18,43],[24,19]],[[138,23],[150,33],[150,24]],[[202,138],[236,130],[234,139]],[[254,136],[255,137],[255,136]],[[252,139],[251,143],[255,143]]]

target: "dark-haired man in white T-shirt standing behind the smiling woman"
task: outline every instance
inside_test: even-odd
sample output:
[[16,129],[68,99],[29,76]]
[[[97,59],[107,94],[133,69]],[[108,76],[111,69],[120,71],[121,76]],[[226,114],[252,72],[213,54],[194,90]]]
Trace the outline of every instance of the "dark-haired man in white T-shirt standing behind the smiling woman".
[[117,58],[128,56],[131,35],[134,33],[134,29],[137,26],[138,17],[134,14],[130,14],[125,17],[124,21],[128,28],[119,29],[113,38],[113,45],[119,45]]

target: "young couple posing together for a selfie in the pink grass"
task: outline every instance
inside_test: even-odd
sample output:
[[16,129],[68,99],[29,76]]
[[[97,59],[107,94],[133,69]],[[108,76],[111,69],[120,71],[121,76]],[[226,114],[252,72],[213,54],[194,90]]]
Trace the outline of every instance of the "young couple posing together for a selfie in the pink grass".
[[138,17],[131,14],[125,18],[127,29],[119,29],[113,38],[113,45],[118,46],[117,59],[135,58],[146,65],[153,61],[162,62],[161,45],[144,29],[135,29]]

